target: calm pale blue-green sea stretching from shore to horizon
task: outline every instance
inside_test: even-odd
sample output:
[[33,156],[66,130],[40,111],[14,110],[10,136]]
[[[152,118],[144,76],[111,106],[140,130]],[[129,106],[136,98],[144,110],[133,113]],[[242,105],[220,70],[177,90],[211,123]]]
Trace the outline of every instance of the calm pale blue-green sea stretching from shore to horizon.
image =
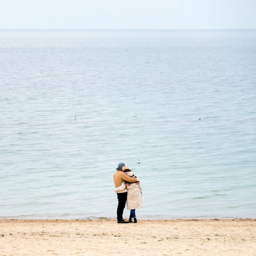
[[256,218],[256,30],[0,30],[0,67],[0,218],[115,219],[119,162],[137,219]]

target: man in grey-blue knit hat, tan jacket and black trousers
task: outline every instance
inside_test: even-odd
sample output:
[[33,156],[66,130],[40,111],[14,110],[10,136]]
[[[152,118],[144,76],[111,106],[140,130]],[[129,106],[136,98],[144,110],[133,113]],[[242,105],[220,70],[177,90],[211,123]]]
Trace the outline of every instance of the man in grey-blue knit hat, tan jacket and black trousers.
[[[115,187],[121,186],[123,180],[128,182],[139,181],[138,178],[131,178],[126,173],[122,171],[122,168],[125,166],[125,163],[119,163],[117,167],[117,172],[114,174],[114,183]],[[124,207],[126,205],[127,199],[127,189],[117,192],[118,206],[117,206],[117,223],[128,223],[123,219]]]

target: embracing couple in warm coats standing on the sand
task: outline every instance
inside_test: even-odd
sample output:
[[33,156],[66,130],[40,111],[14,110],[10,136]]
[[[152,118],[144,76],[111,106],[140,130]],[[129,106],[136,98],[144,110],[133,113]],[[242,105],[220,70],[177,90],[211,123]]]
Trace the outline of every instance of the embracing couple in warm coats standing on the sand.
[[127,200],[127,209],[130,210],[129,222],[137,223],[135,209],[142,208],[142,189],[139,179],[124,163],[119,163],[114,174],[115,192],[117,193],[117,223],[128,223],[123,219],[123,212]]

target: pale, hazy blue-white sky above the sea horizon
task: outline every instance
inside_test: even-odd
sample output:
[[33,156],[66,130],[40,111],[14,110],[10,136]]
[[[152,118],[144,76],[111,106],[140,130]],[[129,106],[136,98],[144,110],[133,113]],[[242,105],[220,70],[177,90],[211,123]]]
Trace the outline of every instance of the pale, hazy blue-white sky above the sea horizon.
[[0,29],[256,29],[256,0],[0,0]]

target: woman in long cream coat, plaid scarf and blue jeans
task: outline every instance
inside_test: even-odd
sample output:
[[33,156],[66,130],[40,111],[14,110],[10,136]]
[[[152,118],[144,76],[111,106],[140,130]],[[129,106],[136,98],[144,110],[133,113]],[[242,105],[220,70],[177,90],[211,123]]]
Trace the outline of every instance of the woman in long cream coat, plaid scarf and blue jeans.
[[[136,178],[136,175],[128,167],[123,166],[122,170],[128,176],[132,178]],[[115,192],[122,191],[125,188],[127,189],[127,209],[130,210],[129,222],[132,222],[132,218],[133,218],[133,222],[137,223],[135,209],[143,207],[141,185],[139,184],[139,181],[127,182],[123,180],[121,186],[115,188]]]

